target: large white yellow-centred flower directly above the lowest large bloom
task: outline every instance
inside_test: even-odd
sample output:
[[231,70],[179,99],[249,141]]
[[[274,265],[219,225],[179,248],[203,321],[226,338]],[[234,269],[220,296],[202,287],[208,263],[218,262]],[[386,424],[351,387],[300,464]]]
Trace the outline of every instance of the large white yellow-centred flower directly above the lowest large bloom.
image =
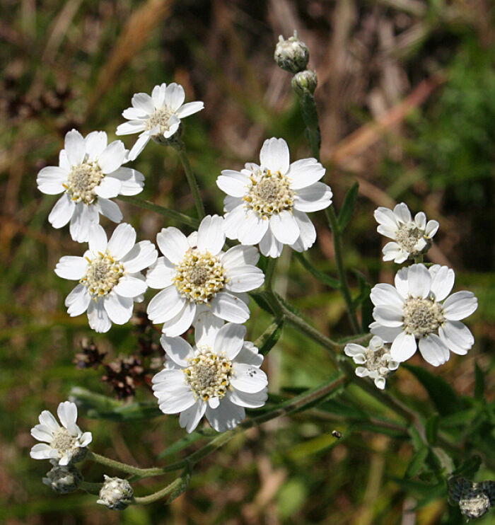
[[177,228],[163,228],[156,243],[164,257],[150,268],[146,282],[163,288],[148,304],[148,318],[163,323],[169,337],[181,335],[204,311],[233,323],[248,321],[249,292],[260,287],[264,274],[255,264],[253,246],[234,246],[225,253],[223,218],[204,217],[197,232],[186,237]]

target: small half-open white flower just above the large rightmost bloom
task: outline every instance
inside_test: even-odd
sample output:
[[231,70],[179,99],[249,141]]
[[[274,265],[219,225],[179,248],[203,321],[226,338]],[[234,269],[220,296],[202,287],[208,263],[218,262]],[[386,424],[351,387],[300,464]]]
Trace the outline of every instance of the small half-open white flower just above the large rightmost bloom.
[[397,204],[393,212],[385,207],[375,209],[374,217],[379,223],[376,231],[393,239],[383,247],[383,260],[400,263],[409,257],[425,253],[431,246],[431,238],[438,230],[437,221],[426,222],[424,212],[411,217],[407,204]]

